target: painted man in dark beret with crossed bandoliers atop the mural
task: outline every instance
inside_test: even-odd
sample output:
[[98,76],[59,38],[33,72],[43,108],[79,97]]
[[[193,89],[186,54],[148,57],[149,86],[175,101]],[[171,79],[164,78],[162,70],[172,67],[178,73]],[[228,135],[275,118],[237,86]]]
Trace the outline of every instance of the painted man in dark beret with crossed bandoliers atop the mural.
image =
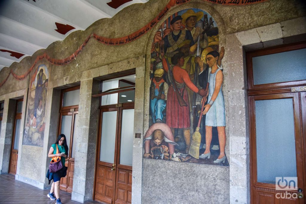
[[172,57],[179,49],[179,45],[185,40],[190,40],[189,46],[194,45],[194,41],[189,30],[181,30],[182,17],[175,16],[171,22],[172,31],[160,42],[160,47],[164,46],[165,57]]

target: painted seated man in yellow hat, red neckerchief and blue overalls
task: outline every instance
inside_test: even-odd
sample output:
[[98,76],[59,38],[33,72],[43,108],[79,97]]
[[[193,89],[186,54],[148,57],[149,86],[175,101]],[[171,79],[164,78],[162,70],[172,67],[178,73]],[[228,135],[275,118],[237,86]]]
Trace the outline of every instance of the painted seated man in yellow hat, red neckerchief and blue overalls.
[[168,93],[168,84],[162,78],[165,71],[162,67],[156,67],[150,86],[150,109],[153,123],[162,122],[164,117],[162,111],[166,108],[165,100],[167,100]]

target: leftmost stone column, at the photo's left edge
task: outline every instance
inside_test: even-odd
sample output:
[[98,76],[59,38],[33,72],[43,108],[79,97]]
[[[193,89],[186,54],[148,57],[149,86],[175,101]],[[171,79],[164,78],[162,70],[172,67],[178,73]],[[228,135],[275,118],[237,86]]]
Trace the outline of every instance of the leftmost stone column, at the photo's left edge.
[[11,154],[15,107],[16,100],[6,97],[4,100],[0,135],[0,174],[8,173],[9,171],[9,158]]

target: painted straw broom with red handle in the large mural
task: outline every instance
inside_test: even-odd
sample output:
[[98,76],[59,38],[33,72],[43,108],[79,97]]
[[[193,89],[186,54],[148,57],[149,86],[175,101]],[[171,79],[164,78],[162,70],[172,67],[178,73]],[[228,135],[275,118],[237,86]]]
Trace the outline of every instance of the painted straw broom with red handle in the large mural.
[[[206,93],[208,90],[208,85],[209,83],[207,83],[206,85]],[[206,101],[206,97],[203,97],[203,103],[202,103],[202,108],[201,108],[201,113],[200,113],[200,118],[199,118],[199,122],[198,122],[198,126],[196,127],[196,131],[192,134],[192,139],[191,139],[191,145],[190,145],[190,149],[188,154],[191,155],[192,157],[199,159],[199,152],[200,152],[200,144],[201,144],[201,133],[200,133],[200,125],[201,125],[201,120],[202,120],[202,116],[203,116],[203,110],[204,110],[204,104]],[[193,117],[196,117],[195,115]]]

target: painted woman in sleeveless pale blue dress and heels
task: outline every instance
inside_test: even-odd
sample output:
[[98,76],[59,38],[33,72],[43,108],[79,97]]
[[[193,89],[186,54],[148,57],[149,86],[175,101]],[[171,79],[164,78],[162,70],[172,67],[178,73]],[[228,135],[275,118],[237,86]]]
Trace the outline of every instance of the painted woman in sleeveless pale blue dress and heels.
[[[209,158],[210,153],[210,144],[212,138],[212,127],[216,126],[218,130],[218,138],[220,145],[220,155],[214,161],[214,163],[224,163],[226,156],[224,153],[225,149],[225,106],[224,106],[224,97],[222,93],[222,82],[223,82],[223,73],[218,66],[219,53],[217,51],[211,51],[206,55],[206,63],[209,70],[208,82],[209,82],[209,92],[208,92],[208,104],[205,105],[203,115],[206,114],[205,121],[205,140],[206,140],[206,149],[200,158]],[[205,101],[203,101],[205,103]]]

